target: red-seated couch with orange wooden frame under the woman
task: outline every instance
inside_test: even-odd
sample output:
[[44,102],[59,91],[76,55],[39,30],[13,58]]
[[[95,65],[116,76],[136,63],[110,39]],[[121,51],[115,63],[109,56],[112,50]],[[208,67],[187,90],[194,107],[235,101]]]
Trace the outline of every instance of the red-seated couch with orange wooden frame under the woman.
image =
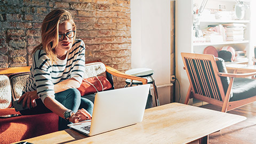
[[[29,71],[30,67],[0,69],[0,116],[20,114],[12,107],[12,102],[20,98]],[[111,89],[114,89],[113,75],[141,81],[143,84],[147,83],[145,78],[126,75],[100,61],[86,62],[84,77],[89,78],[98,75],[108,79],[112,85]],[[83,97],[94,101],[94,95],[90,94]],[[152,97],[149,97],[146,108],[152,107],[152,101]],[[21,141],[55,131],[58,131],[58,115],[54,113],[0,118],[0,143]]]

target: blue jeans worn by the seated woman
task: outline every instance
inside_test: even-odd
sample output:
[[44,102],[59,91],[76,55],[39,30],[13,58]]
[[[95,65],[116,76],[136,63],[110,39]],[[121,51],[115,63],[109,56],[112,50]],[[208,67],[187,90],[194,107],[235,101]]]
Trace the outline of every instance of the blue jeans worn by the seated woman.
[[[68,89],[63,92],[55,93],[55,100],[59,101],[67,109],[73,110],[75,113],[78,109],[84,108],[92,115],[93,103],[88,99],[81,98],[81,94],[77,89]],[[35,108],[22,110],[20,113],[22,115],[36,115],[52,112],[45,107],[41,99],[36,99],[36,103],[37,106]],[[67,125],[70,123],[71,122],[66,121],[66,119],[59,117],[59,131],[68,129]]]

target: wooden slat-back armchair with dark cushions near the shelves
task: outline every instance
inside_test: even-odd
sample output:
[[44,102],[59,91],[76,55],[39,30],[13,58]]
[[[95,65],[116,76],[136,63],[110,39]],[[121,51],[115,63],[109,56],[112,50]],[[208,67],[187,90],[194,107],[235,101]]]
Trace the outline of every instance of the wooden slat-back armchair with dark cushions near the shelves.
[[253,73],[228,74],[225,62],[210,54],[181,53],[189,79],[185,104],[196,98],[222,107],[222,112],[256,101],[256,79]]

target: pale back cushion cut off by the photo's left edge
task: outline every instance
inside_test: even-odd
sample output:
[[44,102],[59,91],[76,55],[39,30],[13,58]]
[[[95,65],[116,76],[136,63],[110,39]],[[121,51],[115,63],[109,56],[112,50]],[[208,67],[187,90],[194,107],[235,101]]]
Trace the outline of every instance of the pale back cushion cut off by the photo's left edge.
[[12,91],[9,77],[0,75],[0,108],[10,108],[12,105]]

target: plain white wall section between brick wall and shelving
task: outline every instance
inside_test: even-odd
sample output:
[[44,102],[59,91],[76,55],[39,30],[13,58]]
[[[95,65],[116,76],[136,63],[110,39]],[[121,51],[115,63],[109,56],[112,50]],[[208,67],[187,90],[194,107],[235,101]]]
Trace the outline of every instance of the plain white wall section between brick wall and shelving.
[[170,1],[131,0],[132,68],[154,70],[161,105],[170,102]]

